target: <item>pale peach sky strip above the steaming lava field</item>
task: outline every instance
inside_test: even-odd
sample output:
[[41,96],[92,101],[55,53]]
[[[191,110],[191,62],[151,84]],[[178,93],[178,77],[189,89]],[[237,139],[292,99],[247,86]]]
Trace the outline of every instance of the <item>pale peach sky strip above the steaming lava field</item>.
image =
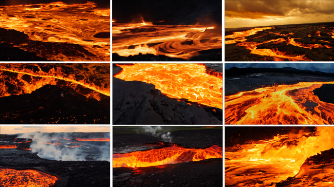
[[0,134],[25,132],[110,132],[110,126],[0,126]]

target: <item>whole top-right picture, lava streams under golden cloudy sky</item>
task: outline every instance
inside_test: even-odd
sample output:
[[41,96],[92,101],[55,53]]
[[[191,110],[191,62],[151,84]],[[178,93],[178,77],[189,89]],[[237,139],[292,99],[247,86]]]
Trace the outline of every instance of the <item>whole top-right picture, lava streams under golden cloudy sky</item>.
[[225,61],[333,61],[333,0],[225,0]]

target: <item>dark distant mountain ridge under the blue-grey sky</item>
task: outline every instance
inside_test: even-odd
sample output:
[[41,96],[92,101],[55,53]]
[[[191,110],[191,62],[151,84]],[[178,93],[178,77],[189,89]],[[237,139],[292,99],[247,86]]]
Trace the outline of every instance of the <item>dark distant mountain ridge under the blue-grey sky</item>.
[[284,67],[284,68],[237,68],[237,67],[232,67],[229,70],[225,70],[225,77],[242,76],[242,75],[247,75],[247,74],[260,74],[260,73],[283,73],[283,74],[334,77],[334,73],[325,73],[325,72],[319,72],[319,71],[313,72],[310,70],[299,70],[299,69],[292,68],[292,67]]

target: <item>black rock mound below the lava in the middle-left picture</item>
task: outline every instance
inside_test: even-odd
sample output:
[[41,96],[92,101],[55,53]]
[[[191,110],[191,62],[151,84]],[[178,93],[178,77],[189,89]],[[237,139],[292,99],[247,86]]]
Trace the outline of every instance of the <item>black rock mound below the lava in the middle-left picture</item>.
[[0,103],[1,124],[110,124],[109,98],[87,99],[67,87],[45,85]]

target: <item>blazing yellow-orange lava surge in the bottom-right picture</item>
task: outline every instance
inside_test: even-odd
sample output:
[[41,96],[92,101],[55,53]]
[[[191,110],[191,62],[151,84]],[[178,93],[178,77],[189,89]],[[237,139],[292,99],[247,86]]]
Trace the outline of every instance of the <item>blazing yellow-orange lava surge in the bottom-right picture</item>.
[[295,177],[300,180],[287,187],[333,187],[333,162],[306,162],[310,156],[334,148],[333,140],[333,127],[316,127],[315,132],[277,134],[272,139],[226,147],[225,186],[277,187],[272,183]]

